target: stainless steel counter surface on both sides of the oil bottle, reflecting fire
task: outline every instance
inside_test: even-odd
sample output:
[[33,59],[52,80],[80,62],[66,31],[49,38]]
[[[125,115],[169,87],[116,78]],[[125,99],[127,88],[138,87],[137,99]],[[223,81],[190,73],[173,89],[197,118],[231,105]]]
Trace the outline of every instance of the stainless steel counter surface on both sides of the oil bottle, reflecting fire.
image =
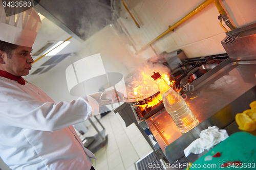
[[228,127],[237,113],[249,109],[250,102],[256,100],[256,60],[226,62],[230,63],[210,70],[207,77],[200,77],[203,81],[192,83],[185,92],[186,103],[200,122],[196,128],[182,135],[165,109],[146,120],[170,163],[181,158],[181,162],[197,160],[200,155],[184,158],[183,150],[200,132],[208,126]]

